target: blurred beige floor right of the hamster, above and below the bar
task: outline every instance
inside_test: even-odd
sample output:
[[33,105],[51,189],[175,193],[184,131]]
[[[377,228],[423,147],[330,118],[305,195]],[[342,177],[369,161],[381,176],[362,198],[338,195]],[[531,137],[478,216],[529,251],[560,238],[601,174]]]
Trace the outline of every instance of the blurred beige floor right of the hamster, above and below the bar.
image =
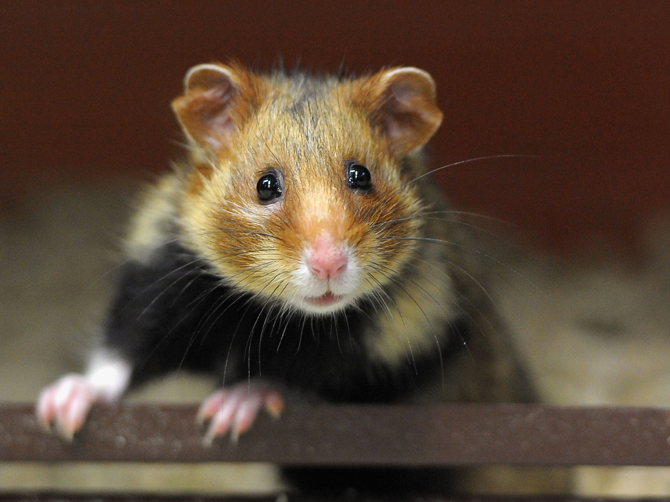
[[[646,235],[635,266],[505,260],[519,274],[498,274],[494,293],[543,401],[670,406],[670,218]],[[574,483],[582,495],[670,495],[670,468],[580,467]]]

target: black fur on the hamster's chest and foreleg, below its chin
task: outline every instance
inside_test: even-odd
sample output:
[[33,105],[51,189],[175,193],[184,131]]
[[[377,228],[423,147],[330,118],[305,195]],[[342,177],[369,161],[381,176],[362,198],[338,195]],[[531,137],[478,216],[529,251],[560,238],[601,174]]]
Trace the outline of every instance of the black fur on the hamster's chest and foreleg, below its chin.
[[[214,373],[234,384],[260,376],[330,401],[392,402],[440,371],[435,351],[393,367],[366,353],[378,315],[363,300],[337,315],[291,313],[240,292],[194,254],[166,244],[148,264],[121,270],[105,343],[131,361],[133,384],[178,369]],[[446,337],[448,363],[462,345]]]

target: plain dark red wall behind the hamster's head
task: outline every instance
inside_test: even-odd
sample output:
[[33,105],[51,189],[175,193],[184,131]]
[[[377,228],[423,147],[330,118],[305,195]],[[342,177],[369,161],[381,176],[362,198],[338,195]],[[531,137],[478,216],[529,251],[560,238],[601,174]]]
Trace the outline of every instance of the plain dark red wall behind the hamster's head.
[[[169,103],[193,64],[237,58],[438,82],[434,163],[460,207],[535,242],[635,251],[670,210],[668,2],[3,2],[0,196],[146,177],[179,149]],[[7,205],[7,204],[5,204]]]

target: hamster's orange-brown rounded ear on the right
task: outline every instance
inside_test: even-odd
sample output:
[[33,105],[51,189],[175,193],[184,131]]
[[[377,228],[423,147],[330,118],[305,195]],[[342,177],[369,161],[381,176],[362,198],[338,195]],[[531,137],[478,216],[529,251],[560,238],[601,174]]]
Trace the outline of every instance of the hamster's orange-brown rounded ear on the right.
[[364,80],[354,92],[354,102],[356,98],[367,101],[360,104],[368,109],[372,106],[373,122],[400,157],[427,143],[442,122],[442,112],[435,104],[435,82],[419,68],[379,72]]

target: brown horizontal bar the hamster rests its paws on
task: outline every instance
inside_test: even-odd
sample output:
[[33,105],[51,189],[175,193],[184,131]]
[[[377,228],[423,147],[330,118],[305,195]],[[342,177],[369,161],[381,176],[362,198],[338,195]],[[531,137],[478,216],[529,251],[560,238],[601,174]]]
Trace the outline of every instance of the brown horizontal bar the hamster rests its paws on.
[[529,404],[287,406],[207,448],[195,406],[98,406],[73,442],[0,406],[0,461],[261,461],[287,466],[670,465],[659,408]]

